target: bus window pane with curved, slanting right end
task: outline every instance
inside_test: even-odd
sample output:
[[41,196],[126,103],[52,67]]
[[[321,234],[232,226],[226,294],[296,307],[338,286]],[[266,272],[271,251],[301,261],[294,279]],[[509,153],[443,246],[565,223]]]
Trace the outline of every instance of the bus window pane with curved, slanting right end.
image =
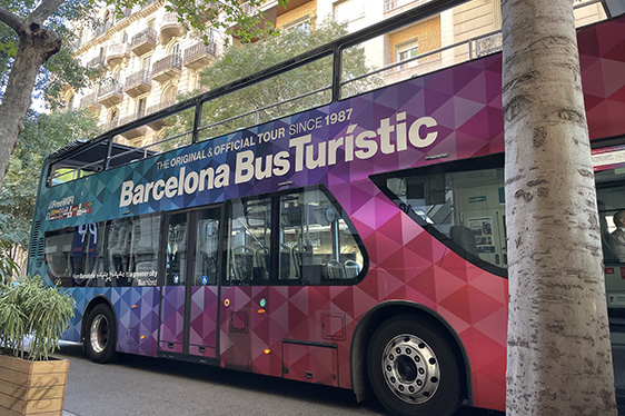
[[305,285],[355,279],[364,256],[343,209],[320,189],[280,197],[279,279]]

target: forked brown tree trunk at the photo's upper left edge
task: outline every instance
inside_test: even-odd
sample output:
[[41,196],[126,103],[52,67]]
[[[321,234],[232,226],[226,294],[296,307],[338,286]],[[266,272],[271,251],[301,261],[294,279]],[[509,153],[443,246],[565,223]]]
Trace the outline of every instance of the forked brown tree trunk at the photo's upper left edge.
[[0,187],[18,136],[23,130],[23,118],[30,107],[39,69],[61,47],[59,36],[37,22],[27,20],[17,29],[19,48],[0,103]]

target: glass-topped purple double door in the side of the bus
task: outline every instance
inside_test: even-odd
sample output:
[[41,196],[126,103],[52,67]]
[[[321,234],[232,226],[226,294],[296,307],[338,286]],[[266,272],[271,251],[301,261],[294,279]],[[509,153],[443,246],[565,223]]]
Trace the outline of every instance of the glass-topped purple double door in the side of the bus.
[[217,358],[221,207],[166,216],[159,351]]

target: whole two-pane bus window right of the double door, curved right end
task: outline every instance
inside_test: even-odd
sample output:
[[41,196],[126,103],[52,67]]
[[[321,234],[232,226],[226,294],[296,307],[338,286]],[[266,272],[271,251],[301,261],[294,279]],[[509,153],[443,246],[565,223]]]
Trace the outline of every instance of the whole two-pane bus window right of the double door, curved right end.
[[364,276],[360,239],[317,187],[231,201],[227,235],[226,285],[346,285]]

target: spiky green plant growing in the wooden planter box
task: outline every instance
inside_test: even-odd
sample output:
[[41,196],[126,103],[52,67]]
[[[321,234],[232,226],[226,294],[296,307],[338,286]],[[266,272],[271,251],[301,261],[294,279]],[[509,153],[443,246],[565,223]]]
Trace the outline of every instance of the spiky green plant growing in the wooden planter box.
[[39,276],[1,285],[0,351],[47,360],[73,316],[75,304],[71,296],[57,286],[46,286]]

